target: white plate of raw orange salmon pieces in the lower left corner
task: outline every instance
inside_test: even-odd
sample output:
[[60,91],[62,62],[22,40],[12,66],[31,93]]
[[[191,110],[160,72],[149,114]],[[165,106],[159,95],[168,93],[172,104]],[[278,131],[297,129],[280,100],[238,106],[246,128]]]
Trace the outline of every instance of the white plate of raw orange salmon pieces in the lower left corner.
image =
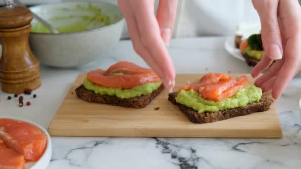
[[50,136],[43,127],[0,117],[0,169],[46,169],[50,159]]

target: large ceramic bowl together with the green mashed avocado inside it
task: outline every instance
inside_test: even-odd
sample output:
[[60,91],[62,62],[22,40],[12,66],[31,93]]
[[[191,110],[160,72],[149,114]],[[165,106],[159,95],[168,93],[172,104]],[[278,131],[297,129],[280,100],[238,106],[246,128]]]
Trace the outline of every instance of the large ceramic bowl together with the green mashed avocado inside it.
[[30,7],[58,30],[37,20],[29,36],[33,54],[52,67],[81,67],[100,59],[120,40],[124,18],[119,7],[106,2],[58,2]]

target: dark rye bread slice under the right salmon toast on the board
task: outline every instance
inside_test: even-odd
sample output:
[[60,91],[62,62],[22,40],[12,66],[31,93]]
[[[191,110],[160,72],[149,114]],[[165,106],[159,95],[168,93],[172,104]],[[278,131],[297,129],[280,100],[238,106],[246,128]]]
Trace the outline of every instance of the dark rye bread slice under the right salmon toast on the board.
[[170,93],[168,100],[175,105],[178,105],[180,110],[186,114],[189,120],[193,123],[212,123],[221,120],[226,120],[238,116],[245,116],[255,112],[264,112],[269,110],[272,100],[267,97],[262,97],[259,102],[253,102],[245,107],[239,107],[234,109],[227,109],[218,112],[204,112],[198,113],[194,109],[187,107],[183,104],[176,102],[177,92]]

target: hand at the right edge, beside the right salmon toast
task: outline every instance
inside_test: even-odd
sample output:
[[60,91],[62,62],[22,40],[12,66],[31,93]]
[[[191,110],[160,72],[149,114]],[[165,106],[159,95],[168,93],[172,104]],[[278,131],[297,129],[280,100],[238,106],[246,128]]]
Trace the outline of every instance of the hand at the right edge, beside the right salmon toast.
[[265,53],[251,74],[257,77],[268,68],[255,85],[263,92],[272,90],[273,98],[277,99],[301,71],[301,7],[298,0],[252,2],[260,16]]

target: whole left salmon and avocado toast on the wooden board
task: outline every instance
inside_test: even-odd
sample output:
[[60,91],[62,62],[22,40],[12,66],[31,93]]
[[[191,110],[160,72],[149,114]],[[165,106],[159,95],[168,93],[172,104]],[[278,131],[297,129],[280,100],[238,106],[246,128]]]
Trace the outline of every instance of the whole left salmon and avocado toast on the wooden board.
[[121,61],[106,71],[89,72],[75,91],[88,102],[143,108],[162,90],[161,80],[151,69]]

